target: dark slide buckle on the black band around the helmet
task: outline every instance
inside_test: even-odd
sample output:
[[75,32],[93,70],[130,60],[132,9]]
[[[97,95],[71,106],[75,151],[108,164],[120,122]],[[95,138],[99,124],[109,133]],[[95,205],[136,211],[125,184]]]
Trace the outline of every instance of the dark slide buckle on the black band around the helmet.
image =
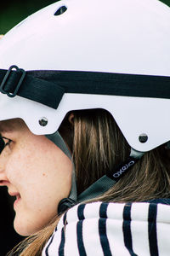
[[[21,76],[20,76],[20,80],[19,80],[18,84],[17,84],[16,87],[15,87],[14,92],[10,92],[10,91],[8,92],[8,91],[4,90],[4,86],[5,86],[5,84],[7,83],[7,80],[8,80],[8,78],[9,78],[9,76],[10,76],[10,73],[11,73],[11,71],[12,71],[13,69],[15,69],[16,72],[22,73],[22,74],[21,74]],[[8,72],[5,74],[5,76],[4,76],[4,78],[3,78],[3,81],[2,81],[2,83],[1,83],[1,85],[0,85],[0,91],[1,91],[3,94],[7,94],[9,97],[13,98],[14,96],[17,95],[17,92],[18,92],[18,90],[20,89],[20,85],[22,84],[22,82],[23,82],[23,80],[24,80],[25,77],[26,77],[26,71],[25,71],[24,69],[19,68],[19,67],[15,66],[15,65],[9,67]]]

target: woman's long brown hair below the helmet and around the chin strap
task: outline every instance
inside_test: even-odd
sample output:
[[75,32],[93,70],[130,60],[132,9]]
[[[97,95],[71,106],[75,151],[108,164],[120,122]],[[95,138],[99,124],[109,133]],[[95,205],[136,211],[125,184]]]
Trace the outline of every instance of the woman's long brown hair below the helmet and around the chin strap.
[[[126,160],[130,147],[111,114],[104,109],[75,111],[72,123],[73,125],[68,121],[67,115],[59,127],[59,132],[72,150],[77,191],[80,194],[105,175],[107,169],[114,170]],[[169,197],[169,152],[165,145],[161,145],[145,153],[116,185],[91,201],[148,201]],[[56,217],[52,224],[21,242],[17,255],[41,255],[42,247],[52,235],[58,221],[59,217]],[[23,253],[19,253],[20,251]],[[14,251],[9,255],[14,255]]]

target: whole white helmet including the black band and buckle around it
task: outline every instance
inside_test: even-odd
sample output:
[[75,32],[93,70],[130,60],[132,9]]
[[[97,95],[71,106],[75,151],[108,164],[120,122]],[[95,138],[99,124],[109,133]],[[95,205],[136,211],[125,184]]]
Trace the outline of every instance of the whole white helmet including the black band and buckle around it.
[[0,41],[0,120],[37,134],[105,108],[140,152],[170,140],[170,9],[157,0],[63,0]]

